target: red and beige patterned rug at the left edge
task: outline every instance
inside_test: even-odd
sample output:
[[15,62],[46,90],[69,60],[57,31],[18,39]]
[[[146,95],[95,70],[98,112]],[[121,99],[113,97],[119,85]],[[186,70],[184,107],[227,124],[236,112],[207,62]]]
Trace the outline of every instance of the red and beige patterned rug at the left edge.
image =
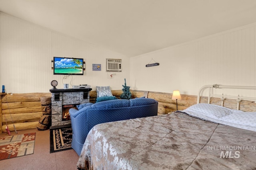
[[0,160],[34,154],[36,133],[0,137]]

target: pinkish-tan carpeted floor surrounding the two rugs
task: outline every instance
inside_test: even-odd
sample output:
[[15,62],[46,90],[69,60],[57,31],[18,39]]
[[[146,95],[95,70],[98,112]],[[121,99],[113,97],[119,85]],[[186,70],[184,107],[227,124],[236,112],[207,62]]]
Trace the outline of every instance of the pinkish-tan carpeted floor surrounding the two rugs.
[[[36,132],[34,154],[20,156],[12,159],[0,160],[0,170],[77,170],[78,154],[74,149],[62,152],[50,153],[50,129],[39,131],[28,129],[14,131],[11,135],[20,135]],[[0,134],[0,137],[9,136],[8,133]]]

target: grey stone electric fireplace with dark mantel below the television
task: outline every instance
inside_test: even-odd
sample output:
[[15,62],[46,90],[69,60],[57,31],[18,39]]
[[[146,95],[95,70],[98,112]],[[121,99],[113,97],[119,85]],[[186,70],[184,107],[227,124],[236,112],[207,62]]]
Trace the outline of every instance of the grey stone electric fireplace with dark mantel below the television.
[[71,125],[68,110],[79,104],[89,103],[91,88],[50,89],[52,93],[52,126],[63,127]]

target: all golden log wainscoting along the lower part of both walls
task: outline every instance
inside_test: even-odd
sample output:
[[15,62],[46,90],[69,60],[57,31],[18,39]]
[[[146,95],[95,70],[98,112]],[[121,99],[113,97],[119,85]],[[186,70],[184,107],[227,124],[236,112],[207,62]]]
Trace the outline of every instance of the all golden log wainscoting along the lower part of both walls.
[[[176,111],[176,100],[172,100],[172,93],[163,92],[148,92],[140,90],[130,90],[132,98],[153,98],[158,101],[158,115],[167,114]],[[113,96],[120,99],[122,90],[112,90]],[[14,126],[17,131],[36,129],[36,125],[42,116],[42,108],[40,97],[49,96],[49,93],[27,93],[27,94],[6,94],[0,93],[0,133],[6,133],[6,121],[10,131],[14,131]],[[97,93],[90,91],[90,102],[95,103]],[[189,106],[196,104],[197,96],[181,94],[182,99],[178,100],[178,110],[186,109]],[[6,102],[7,98],[7,102]],[[207,103],[208,97],[202,97],[200,103]],[[220,98],[211,98],[211,104],[221,106]],[[225,107],[236,109],[236,100],[226,99],[224,102]],[[256,111],[256,104],[251,101],[242,100],[240,102],[240,110],[243,111]],[[11,116],[12,115],[12,116]]]

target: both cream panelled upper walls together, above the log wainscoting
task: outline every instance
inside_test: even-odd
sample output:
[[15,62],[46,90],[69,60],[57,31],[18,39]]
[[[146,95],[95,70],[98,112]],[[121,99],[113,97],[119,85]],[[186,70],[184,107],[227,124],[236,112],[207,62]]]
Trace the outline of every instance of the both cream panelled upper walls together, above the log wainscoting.
[[[71,83],[90,84],[93,90],[96,86],[120,90],[124,78],[133,90],[178,89],[190,95],[197,95],[205,84],[256,86],[255,54],[256,23],[130,59],[0,12],[0,88],[5,85],[8,93],[49,92],[51,80],[63,88],[64,76],[53,75],[51,69],[54,56],[84,58],[85,74],[72,76]],[[122,59],[123,70],[112,79],[105,71],[106,58]],[[145,67],[154,62],[160,65]],[[102,64],[102,71],[92,71],[92,64]]]

